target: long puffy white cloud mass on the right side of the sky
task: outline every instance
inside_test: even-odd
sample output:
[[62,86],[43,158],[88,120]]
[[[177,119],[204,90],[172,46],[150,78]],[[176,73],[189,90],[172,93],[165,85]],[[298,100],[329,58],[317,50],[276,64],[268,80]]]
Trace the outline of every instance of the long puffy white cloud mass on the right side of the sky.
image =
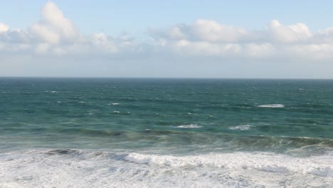
[[149,34],[154,45],[182,56],[333,58],[333,28],[311,32],[305,23],[272,20],[261,30],[248,31],[199,19]]

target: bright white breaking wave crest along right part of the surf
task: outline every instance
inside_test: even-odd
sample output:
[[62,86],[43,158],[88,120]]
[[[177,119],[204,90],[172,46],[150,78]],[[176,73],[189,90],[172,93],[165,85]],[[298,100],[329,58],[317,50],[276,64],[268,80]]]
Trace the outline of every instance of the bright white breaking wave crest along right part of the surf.
[[[251,169],[260,172],[314,174],[333,177],[333,159],[329,156],[298,158],[269,152],[234,152],[174,157],[130,153],[124,160],[137,164],[170,167],[207,167],[233,170]],[[333,179],[332,179],[333,180]]]

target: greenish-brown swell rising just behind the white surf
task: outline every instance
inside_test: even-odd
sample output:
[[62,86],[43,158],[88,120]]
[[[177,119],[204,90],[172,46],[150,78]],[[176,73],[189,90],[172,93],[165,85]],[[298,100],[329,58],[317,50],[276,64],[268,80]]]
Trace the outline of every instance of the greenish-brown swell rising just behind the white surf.
[[[248,127],[247,127],[248,128]],[[62,130],[38,128],[34,133],[22,132],[28,129],[17,128],[19,134],[1,136],[0,142],[10,140],[12,147],[68,147],[119,148],[124,150],[155,150],[174,153],[205,153],[205,152],[277,152],[288,155],[312,156],[333,151],[333,139],[320,137],[277,137],[277,136],[246,136],[221,133],[202,133],[187,130],[200,130],[203,127],[174,127],[172,130],[93,130],[67,128]],[[13,132],[10,130],[4,132]],[[231,130],[233,131],[233,130]],[[237,131],[237,130],[236,130]],[[238,131],[249,131],[238,130]],[[58,133],[57,133],[58,132]],[[181,147],[179,147],[181,146]]]

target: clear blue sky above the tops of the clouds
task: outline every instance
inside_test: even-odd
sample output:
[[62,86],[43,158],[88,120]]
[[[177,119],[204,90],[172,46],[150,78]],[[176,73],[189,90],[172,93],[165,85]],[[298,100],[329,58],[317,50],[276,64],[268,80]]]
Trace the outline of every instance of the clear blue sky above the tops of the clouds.
[[[1,22],[12,28],[28,28],[40,18],[48,1],[1,1]],[[316,31],[332,22],[333,1],[53,1],[84,33],[104,31],[143,35],[149,27],[166,27],[212,19],[226,25],[259,29],[277,19],[285,24],[307,23]],[[15,16],[14,16],[15,15]],[[92,24],[93,23],[93,24]]]

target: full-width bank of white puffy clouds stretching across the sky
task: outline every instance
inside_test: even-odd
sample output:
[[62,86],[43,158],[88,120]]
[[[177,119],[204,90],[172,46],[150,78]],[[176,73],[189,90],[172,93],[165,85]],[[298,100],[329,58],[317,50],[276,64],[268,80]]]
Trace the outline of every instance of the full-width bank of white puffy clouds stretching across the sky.
[[27,29],[0,23],[0,60],[8,63],[13,57],[31,61],[45,57],[89,57],[126,62],[165,57],[181,61],[210,58],[221,63],[230,59],[269,63],[277,58],[333,61],[333,28],[310,31],[305,23],[284,25],[272,20],[251,31],[197,19],[169,28],[149,28],[146,38],[137,41],[134,37],[107,33],[85,35],[50,1],[41,9],[41,19]]

